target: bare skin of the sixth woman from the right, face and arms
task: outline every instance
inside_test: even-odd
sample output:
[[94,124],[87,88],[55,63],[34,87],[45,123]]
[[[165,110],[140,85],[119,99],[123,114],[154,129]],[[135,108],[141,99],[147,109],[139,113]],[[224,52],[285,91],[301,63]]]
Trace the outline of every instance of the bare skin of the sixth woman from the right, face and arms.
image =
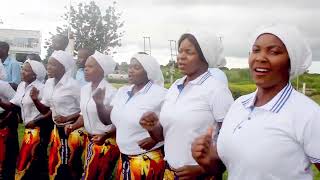
[[[31,84],[33,81],[36,80],[36,74],[32,71],[32,68],[29,63],[25,63],[21,70],[21,77],[22,80],[26,83],[27,87],[29,84]],[[12,110],[14,108],[17,108],[16,105],[10,103],[9,101],[0,101],[0,106],[4,108],[5,110]],[[50,114],[46,114],[44,116],[39,116],[35,118],[34,120],[30,121],[26,128],[35,128],[37,126],[37,123],[45,118],[47,118]]]

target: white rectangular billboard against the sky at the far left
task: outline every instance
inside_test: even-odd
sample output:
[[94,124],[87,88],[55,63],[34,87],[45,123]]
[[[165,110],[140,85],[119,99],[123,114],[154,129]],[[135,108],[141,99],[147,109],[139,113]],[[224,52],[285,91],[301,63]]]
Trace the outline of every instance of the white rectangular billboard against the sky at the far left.
[[34,30],[0,29],[0,41],[10,45],[9,54],[23,62],[27,54],[41,53],[41,32]]

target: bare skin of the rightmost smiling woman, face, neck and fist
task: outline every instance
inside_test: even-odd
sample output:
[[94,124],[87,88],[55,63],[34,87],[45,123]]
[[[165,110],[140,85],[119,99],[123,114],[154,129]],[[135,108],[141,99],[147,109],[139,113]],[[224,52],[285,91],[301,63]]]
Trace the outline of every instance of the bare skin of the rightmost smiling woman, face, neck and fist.
[[[276,96],[289,81],[290,61],[285,45],[272,34],[260,35],[249,57],[249,67],[258,92],[255,106],[263,106]],[[211,142],[212,132],[198,137],[192,144],[192,156],[208,172],[219,160],[217,147]],[[320,169],[320,164],[315,166]]]

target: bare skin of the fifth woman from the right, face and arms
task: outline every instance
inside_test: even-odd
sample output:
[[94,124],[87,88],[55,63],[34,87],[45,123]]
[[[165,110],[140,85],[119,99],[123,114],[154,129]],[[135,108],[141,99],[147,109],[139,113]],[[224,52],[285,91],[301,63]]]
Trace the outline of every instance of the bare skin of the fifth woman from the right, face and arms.
[[[53,57],[50,57],[48,60],[47,71],[48,71],[48,76],[51,78],[54,78],[55,84],[57,84],[65,74],[64,66]],[[47,107],[40,102],[38,89],[33,87],[30,92],[30,96],[41,114],[46,115],[50,112],[50,107]],[[66,123],[70,121],[73,122],[77,120],[78,117],[79,117],[79,112],[71,114],[69,116],[58,115],[53,118],[57,123]]]

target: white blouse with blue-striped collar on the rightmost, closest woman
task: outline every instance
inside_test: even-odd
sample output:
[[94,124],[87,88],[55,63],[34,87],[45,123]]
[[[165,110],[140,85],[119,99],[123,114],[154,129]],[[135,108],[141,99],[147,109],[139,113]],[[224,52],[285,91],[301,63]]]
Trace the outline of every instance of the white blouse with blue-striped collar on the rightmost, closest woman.
[[312,180],[320,163],[320,108],[288,84],[272,100],[255,107],[256,92],[230,108],[217,149],[228,179]]

